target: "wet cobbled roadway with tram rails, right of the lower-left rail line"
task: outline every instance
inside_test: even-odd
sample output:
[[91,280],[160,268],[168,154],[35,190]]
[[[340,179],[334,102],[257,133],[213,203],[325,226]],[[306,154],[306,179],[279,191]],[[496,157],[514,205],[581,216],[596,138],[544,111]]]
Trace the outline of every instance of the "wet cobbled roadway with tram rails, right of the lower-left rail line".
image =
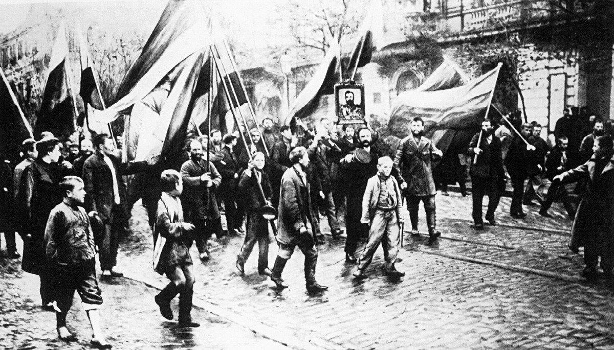
[[[551,209],[552,219],[525,207],[530,215],[518,220],[505,215],[509,202],[502,199],[500,226],[476,232],[470,197],[438,195],[443,237],[429,243],[406,229],[397,267],[407,275],[400,280],[383,275],[378,251],[368,278],[354,281],[343,240],[328,240],[319,246],[316,276],[330,289],[319,295],[305,291],[299,251],[284,270],[290,287],[277,291],[257,274],[257,251],[246,275],[238,275],[242,237],[214,240],[211,261],[195,264],[195,293],[212,313],[295,348],[614,349],[614,283],[578,278],[581,254],[566,248],[571,221],[561,205]],[[136,205],[133,214],[120,264],[127,276],[161,287],[166,281],[151,269],[144,210]],[[271,243],[271,267],[276,251]]]

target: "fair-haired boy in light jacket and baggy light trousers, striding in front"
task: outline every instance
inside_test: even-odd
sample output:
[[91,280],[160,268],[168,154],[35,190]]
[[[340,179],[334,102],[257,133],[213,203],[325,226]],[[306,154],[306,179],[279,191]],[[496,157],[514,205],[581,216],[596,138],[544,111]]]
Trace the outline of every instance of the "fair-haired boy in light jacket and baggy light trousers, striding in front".
[[[397,180],[390,176],[392,172],[392,159],[381,157],[378,160],[378,173],[367,182],[365,195],[362,197],[362,218],[360,223],[370,224],[369,238],[365,249],[358,259],[358,268],[354,278],[362,278],[363,273],[371,264],[373,254],[381,242],[386,257],[386,275],[392,277],[405,276],[394,267],[397,260],[398,243],[400,242],[399,225],[403,223],[401,217],[401,191]],[[402,233],[401,233],[402,234]],[[384,241],[382,241],[384,240]]]

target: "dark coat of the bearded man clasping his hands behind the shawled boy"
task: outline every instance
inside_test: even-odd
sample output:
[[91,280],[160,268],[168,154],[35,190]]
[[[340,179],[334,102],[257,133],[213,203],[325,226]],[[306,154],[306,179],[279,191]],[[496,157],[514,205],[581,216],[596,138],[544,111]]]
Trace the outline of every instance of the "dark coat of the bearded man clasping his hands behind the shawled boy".
[[[210,188],[207,187],[205,182],[200,181],[200,176],[206,172],[211,173],[213,186]],[[181,177],[184,180],[181,202],[185,218],[192,222],[219,218],[220,211],[217,208],[216,189],[222,183],[222,176],[217,172],[216,166],[209,162],[207,169],[203,160],[195,163],[190,159],[181,165]]]

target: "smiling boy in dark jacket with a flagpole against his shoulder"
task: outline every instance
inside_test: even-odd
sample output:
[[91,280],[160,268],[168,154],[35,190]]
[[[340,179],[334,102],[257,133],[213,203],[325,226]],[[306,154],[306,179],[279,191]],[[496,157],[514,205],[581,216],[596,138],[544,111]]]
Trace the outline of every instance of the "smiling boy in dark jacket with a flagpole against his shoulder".
[[[265,154],[256,152],[239,180],[239,192],[246,198],[247,214],[245,242],[241,247],[241,252],[236,256],[236,268],[241,275],[245,272],[245,262],[249,254],[252,253],[256,242],[258,242],[258,273],[266,276],[271,275],[271,270],[268,268],[268,246],[270,243],[268,221],[262,216],[262,207],[271,205],[273,193],[268,175],[262,170],[264,167]],[[258,186],[262,188],[262,192]]]

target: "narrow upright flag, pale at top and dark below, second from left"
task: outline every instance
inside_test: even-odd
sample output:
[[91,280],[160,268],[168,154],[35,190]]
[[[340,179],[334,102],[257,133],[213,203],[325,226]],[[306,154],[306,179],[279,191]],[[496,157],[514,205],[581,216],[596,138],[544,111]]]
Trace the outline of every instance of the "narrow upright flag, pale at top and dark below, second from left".
[[49,74],[38,113],[34,134],[50,131],[56,137],[68,137],[76,131],[76,108],[71,97],[70,69],[68,66],[68,42],[66,29],[61,23],[53,44]]

